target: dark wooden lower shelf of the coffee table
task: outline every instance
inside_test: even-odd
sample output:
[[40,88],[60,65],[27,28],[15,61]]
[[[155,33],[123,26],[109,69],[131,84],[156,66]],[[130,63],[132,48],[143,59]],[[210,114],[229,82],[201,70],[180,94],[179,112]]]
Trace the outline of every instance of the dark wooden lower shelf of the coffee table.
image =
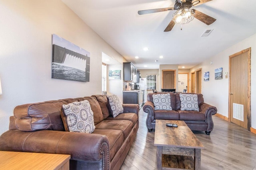
[[192,156],[162,154],[162,170],[194,170]]

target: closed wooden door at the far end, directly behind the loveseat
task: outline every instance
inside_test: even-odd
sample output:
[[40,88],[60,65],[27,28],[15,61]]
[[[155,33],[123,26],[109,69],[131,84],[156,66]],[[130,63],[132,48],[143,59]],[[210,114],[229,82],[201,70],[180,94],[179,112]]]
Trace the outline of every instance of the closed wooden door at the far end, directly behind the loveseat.
[[175,88],[176,86],[176,70],[163,70],[162,72],[162,88]]

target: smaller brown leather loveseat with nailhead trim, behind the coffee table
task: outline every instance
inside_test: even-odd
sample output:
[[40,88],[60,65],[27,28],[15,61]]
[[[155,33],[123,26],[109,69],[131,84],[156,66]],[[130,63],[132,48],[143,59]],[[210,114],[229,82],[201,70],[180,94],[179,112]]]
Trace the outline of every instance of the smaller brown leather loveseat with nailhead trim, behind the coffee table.
[[213,130],[212,115],[217,113],[217,108],[204,103],[203,95],[197,94],[199,111],[183,111],[180,110],[180,93],[169,93],[172,110],[154,110],[152,95],[164,94],[164,92],[148,94],[148,101],[143,107],[144,112],[148,113],[146,119],[148,131],[151,132],[152,129],[155,129],[156,119],[183,120],[192,131],[205,131],[205,133],[209,135]]

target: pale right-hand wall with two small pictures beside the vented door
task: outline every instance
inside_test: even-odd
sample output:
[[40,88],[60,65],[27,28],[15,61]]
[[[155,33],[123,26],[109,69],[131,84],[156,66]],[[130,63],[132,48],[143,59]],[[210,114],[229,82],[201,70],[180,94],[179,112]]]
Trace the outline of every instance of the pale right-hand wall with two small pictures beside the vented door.
[[[252,35],[232,45],[230,48],[218,53],[217,55],[205,60],[204,62],[194,66],[190,72],[202,68],[202,75],[204,72],[210,72],[209,81],[204,82],[202,76],[202,94],[206,103],[216,106],[218,113],[228,117],[228,88],[229,80],[223,76],[221,80],[215,80],[214,70],[216,68],[223,68],[223,72],[229,72],[229,56],[251,47],[251,118],[252,127],[256,129],[256,34]],[[212,61],[212,64],[210,63]]]

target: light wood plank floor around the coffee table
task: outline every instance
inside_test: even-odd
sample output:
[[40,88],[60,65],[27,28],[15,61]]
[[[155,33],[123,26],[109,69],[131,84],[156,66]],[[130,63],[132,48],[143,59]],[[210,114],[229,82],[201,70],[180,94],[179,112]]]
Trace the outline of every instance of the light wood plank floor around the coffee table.
[[[140,109],[138,133],[121,170],[156,170],[154,130],[147,131],[146,116]],[[213,116],[213,121],[210,135],[194,131],[205,147],[201,170],[256,170],[256,134],[220,117]]]

